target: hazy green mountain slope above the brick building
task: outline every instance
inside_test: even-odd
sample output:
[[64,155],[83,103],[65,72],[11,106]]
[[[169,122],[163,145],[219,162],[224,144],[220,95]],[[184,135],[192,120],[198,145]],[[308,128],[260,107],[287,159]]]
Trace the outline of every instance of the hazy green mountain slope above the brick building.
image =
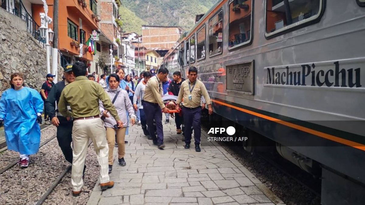
[[[129,12],[121,12],[122,19],[126,13],[123,24],[128,22],[134,25],[141,23],[158,26],[181,26],[185,30],[190,30],[195,24],[195,15],[205,13],[216,3],[217,0],[121,0],[123,7],[129,9]],[[128,13],[134,13],[128,15]],[[138,21],[138,19],[142,19]],[[124,30],[130,32],[141,31],[137,27],[124,27]]]

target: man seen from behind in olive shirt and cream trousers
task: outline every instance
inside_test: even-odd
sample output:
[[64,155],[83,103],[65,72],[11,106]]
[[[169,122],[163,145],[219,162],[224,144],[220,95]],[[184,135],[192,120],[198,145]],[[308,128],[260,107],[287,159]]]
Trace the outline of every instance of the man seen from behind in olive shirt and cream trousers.
[[[82,170],[85,164],[88,142],[91,138],[100,165],[100,188],[106,190],[114,186],[114,182],[109,180],[108,174],[108,143],[105,128],[99,115],[99,100],[103,102],[104,108],[116,120],[118,127],[123,127],[118,113],[112,104],[110,97],[104,89],[95,81],[90,81],[86,77],[87,67],[82,62],[72,65],[72,72],[76,76],[76,81],[62,90],[58,103],[58,111],[65,117],[73,118],[72,138],[73,138],[73,160],[71,183],[73,196],[81,193]],[[72,112],[67,109],[70,105]]]

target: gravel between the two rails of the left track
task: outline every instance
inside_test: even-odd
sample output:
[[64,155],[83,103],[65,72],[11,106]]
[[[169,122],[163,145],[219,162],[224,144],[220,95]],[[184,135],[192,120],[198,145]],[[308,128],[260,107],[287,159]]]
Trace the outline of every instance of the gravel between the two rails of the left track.
[[[55,129],[47,129],[43,138],[54,135]],[[57,139],[52,139],[30,156],[26,169],[15,165],[0,175],[0,204],[35,204],[67,165]]]

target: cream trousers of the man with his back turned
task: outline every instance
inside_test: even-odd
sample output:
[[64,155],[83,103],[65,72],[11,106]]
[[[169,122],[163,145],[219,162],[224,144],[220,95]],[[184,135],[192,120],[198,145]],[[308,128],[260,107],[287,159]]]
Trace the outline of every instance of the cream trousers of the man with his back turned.
[[80,191],[84,182],[82,181],[82,170],[84,169],[89,139],[94,144],[97,160],[100,165],[100,183],[109,182],[108,174],[108,143],[105,136],[105,128],[100,118],[75,120],[72,128],[73,159],[71,184],[74,191]]

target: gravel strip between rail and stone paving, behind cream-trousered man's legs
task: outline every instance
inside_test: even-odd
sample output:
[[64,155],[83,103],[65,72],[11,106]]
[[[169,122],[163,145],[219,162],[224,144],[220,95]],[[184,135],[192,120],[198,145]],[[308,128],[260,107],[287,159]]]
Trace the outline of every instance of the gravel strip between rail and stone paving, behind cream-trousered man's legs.
[[97,162],[94,146],[91,144],[86,155],[86,171],[84,177],[84,186],[80,196],[72,196],[71,171],[69,171],[62,181],[55,187],[53,192],[48,196],[43,205],[85,205],[88,202],[90,194],[94,189],[97,179],[99,179],[99,164]]

